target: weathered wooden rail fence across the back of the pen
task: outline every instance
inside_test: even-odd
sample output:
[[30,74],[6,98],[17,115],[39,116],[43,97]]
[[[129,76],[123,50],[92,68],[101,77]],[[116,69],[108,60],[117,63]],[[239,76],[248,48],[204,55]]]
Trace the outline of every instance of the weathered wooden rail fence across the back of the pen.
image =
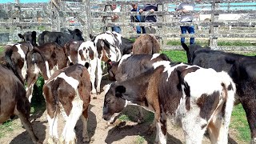
[[[130,22],[132,3],[143,5],[158,4],[158,11],[154,14],[158,22]],[[209,46],[214,50],[256,50],[256,2],[254,0],[206,0],[198,3],[190,14],[197,15],[194,22],[179,22],[180,14],[174,11],[180,1],[143,0],[143,1],[90,1],[65,0],[42,3],[4,3],[0,4],[0,42],[17,42],[18,33],[35,30],[61,31],[67,28],[79,28],[85,36],[99,34],[110,26],[121,26],[122,35],[126,38],[137,38],[133,26],[157,26],[162,49],[182,49],[181,46],[166,46],[167,39],[198,38],[209,40]],[[120,22],[111,22],[113,14],[110,5],[116,3],[121,8]],[[149,13],[143,13],[148,15]],[[195,26],[195,34],[180,34],[179,26]],[[251,46],[218,46],[219,39],[230,38],[250,41]]]

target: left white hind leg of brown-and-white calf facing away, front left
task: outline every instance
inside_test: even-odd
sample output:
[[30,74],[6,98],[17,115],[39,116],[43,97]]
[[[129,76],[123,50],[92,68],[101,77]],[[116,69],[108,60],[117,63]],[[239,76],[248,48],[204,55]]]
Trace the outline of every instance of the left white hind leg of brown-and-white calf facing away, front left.
[[[48,111],[47,107],[47,111]],[[54,117],[50,118],[50,114],[47,114],[47,120],[49,123],[49,134],[50,137],[48,138],[48,143],[57,143],[58,142],[58,116],[59,116],[59,109],[58,107],[54,111]]]

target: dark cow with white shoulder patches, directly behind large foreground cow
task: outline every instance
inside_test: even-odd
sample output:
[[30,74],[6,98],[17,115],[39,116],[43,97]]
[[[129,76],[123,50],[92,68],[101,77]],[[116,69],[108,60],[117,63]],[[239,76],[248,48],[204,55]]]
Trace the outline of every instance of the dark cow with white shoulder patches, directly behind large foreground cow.
[[[170,61],[170,59],[166,54],[125,54],[119,62],[108,62],[107,71],[110,80],[122,82],[146,72],[146,70],[153,67],[154,62],[158,61]],[[139,106],[138,116],[138,123],[140,123],[144,118],[141,106]]]

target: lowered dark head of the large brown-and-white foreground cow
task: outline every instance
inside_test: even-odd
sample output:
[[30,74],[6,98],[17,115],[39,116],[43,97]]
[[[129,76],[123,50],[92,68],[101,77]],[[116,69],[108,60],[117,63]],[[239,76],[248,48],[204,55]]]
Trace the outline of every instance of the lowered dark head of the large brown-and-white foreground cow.
[[126,100],[122,96],[126,92],[126,88],[124,86],[110,84],[106,87],[105,91],[102,118],[106,121],[114,122],[114,117],[126,107]]

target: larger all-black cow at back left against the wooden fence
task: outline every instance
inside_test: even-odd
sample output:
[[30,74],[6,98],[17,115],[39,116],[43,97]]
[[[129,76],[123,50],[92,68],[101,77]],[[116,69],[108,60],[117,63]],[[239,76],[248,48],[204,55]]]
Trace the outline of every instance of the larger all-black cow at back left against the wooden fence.
[[69,30],[70,34],[65,32],[56,32],[56,31],[43,31],[42,34],[38,36],[39,46],[48,43],[56,42],[59,46],[64,46],[66,42],[70,40],[83,41],[82,32],[78,29]]

